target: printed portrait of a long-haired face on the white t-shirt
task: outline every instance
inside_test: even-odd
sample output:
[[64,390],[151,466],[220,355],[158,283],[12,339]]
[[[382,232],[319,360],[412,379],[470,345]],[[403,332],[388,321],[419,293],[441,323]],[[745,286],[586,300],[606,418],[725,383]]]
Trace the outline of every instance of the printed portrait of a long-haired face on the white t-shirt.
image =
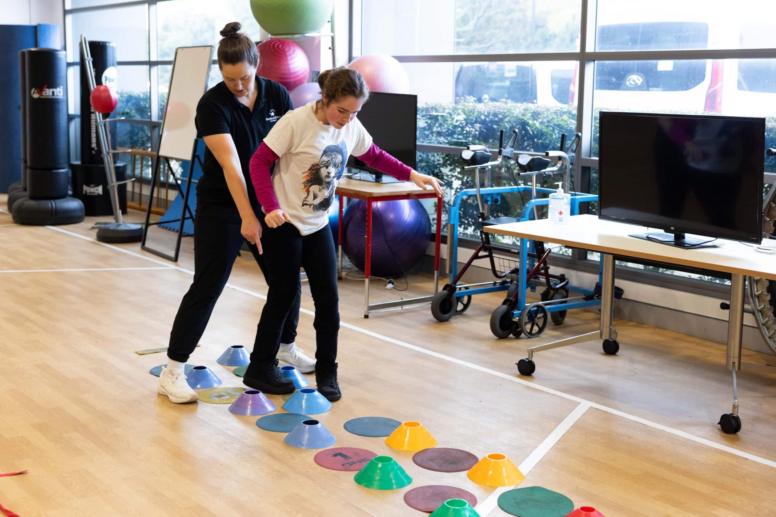
[[334,200],[334,189],[345,170],[348,146],[345,140],[338,145],[326,146],[320,160],[302,173],[302,190],[307,193],[302,206],[309,206],[314,212],[326,212]]

